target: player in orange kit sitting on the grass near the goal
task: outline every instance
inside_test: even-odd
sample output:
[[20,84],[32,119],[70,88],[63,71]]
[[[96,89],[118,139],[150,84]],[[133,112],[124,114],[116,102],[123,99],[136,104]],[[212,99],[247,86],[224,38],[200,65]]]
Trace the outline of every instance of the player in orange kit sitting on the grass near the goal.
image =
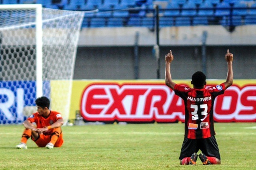
[[47,97],[39,97],[35,102],[37,112],[24,121],[23,125],[26,129],[22,134],[20,144],[16,145],[16,148],[27,149],[26,142],[30,136],[39,147],[52,149],[53,147],[62,146],[62,115],[49,109],[50,100]]

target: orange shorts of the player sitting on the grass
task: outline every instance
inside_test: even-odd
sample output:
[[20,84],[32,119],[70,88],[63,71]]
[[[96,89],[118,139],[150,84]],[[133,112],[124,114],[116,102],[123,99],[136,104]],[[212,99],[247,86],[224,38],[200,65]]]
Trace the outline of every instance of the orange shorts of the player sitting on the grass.
[[[32,138],[32,140],[34,139]],[[44,135],[44,134],[40,134],[39,138],[34,140],[34,142],[36,142],[38,147],[45,147],[46,144],[48,144],[50,141],[51,141],[51,135]],[[62,144],[63,144],[63,136],[61,132],[56,143],[54,144],[54,147],[60,147],[62,146]]]

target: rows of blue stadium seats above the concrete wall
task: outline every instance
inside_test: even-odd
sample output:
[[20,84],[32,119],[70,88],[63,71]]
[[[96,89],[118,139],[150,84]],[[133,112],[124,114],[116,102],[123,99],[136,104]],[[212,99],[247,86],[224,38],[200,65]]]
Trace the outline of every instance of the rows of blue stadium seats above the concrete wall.
[[45,8],[90,11],[83,28],[140,26],[154,28],[154,5],[159,26],[256,24],[256,0],[1,0],[1,4],[42,4]]

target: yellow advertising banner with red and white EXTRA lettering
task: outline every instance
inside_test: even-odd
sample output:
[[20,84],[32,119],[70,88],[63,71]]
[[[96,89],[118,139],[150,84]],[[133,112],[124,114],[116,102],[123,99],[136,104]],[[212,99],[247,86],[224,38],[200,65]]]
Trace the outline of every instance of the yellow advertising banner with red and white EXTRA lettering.
[[[215,86],[225,80],[207,80]],[[190,80],[176,83],[192,87]],[[70,119],[85,121],[184,122],[184,102],[164,80],[73,81]],[[214,104],[216,122],[256,121],[256,80],[235,80]]]

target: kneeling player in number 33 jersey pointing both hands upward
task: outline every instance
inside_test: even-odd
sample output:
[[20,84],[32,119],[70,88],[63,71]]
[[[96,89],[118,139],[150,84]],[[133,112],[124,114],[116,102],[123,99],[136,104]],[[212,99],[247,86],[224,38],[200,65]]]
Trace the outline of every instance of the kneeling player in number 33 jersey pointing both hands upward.
[[[181,97],[185,105],[185,135],[180,152],[180,164],[196,164],[199,156],[203,165],[220,164],[220,152],[215,138],[213,105],[218,95],[233,83],[233,54],[227,50],[225,59],[228,63],[226,81],[220,85],[205,87],[206,76],[201,71],[192,75],[193,88],[178,85],[172,81],[170,65],[172,51],[165,55],[165,83]],[[199,155],[197,152],[201,150]]]

